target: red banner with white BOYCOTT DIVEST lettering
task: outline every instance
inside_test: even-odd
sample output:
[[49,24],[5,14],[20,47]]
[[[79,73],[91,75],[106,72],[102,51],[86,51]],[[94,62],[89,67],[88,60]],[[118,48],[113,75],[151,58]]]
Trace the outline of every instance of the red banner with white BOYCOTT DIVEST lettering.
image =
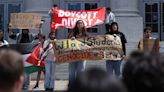
[[51,24],[52,30],[57,28],[73,28],[77,20],[83,20],[86,28],[103,24],[105,19],[105,7],[92,10],[53,10],[54,20]]

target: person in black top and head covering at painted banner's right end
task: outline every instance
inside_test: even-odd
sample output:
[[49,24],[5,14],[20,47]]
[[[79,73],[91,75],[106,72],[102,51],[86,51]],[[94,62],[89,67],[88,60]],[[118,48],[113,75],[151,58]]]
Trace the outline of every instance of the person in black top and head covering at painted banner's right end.
[[[106,33],[106,34],[110,34],[110,35],[115,35],[116,34],[117,36],[120,37],[121,43],[122,43],[122,49],[123,49],[123,56],[122,56],[122,58],[124,58],[125,55],[126,55],[125,43],[127,43],[127,41],[126,41],[125,35],[122,32],[118,31],[118,24],[117,24],[117,22],[113,22],[111,24],[111,31]],[[118,77],[118,78],[120,77],[121,61],[122,61],[122,59],[120,59],[120,60],[107,60],[106,61],[107,71],[109,73],[113,73],[113,71],[114,71],[116,77]]]

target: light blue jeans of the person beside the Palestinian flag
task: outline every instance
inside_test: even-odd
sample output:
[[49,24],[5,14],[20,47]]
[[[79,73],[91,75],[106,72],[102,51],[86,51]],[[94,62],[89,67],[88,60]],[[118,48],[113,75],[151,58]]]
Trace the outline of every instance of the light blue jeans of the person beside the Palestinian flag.
[[55,62],[45,61],[45,82],[44,88],[54,89],[55,85]]

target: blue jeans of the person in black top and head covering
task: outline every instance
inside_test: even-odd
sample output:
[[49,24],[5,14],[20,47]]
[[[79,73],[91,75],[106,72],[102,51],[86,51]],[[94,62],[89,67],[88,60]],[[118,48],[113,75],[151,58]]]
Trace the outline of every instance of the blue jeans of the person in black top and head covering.
[[120,66],[121,66],[121,60],[107,60],[106,61],[106,68],[107,68],[107,72],[115,73],[115,76],[117,78],[120,78]]

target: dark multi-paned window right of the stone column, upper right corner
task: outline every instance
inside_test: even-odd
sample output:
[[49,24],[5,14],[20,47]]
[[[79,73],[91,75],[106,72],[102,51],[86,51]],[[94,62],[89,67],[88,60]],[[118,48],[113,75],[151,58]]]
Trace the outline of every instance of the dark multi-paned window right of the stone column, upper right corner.
[[164,40],[164,0],[140,0],[140,15],[144,26],[153,28],[153,36]]

